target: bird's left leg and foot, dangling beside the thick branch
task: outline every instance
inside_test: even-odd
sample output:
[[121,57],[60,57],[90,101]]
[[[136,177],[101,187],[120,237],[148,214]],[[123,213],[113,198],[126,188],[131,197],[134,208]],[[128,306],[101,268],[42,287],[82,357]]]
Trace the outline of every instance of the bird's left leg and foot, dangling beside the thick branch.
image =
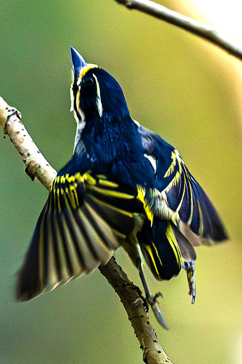
[[168,327],[164,321],[164,318],[163,318],[163,315],[162,313],[160,312],[160,309],[159,309],[159,306],[158,306],[158,301],[157,301],[157,298],[158,297],[162,297],[162,293],[160,292],[157,292],[156,294],[152,294],[150,292],[150,289],[148,287],[148,284],[146,282],[146,279],[144,277],[144,272],[143,272],[143,269],[142,269],[142,263],[141,263],[141,259],[140,258],[137,258],[136,259],[136,267],[139,271],[139,276],[140,276],[140,280],[142,282],[142,285],[144,287],[144,292],[145,292],[145,295],[146,295],[146,301],[148,302],[148,304],[150,305],[155,317],[156,317],[156,320],[158,321],[158,323],[166,330],[168,330]]

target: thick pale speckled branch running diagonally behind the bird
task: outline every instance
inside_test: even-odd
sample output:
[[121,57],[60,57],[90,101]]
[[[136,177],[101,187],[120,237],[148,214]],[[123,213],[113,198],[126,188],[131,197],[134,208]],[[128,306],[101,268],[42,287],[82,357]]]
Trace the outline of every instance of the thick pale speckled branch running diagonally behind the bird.
[[[21,122],[21,113],[9,106],[0,97],[0,125],[7,134],[25,163],[25,172],[32,179],[37,178],[42,185],[50,189],[56,177],[56,171],[46,161]],[[127,274],[116,263],[115,258],[99,267],[100,272],[114,288],[128,314],[135,335],[143,351],[143,361],[147,364],[172,364],[158,343],[155,330],[152,328],[144,308],[142,292],[127,277]]]

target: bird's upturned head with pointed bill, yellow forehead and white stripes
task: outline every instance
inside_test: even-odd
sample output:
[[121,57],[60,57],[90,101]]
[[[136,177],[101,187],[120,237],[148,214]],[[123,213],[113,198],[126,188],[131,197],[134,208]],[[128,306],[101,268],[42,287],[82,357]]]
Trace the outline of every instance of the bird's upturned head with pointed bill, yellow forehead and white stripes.
[[114,77],[96,64],[87,63],[73,47],[71,58],[71,111],[78,124],[105,116],[114,119],[129,115],[122,88]]

